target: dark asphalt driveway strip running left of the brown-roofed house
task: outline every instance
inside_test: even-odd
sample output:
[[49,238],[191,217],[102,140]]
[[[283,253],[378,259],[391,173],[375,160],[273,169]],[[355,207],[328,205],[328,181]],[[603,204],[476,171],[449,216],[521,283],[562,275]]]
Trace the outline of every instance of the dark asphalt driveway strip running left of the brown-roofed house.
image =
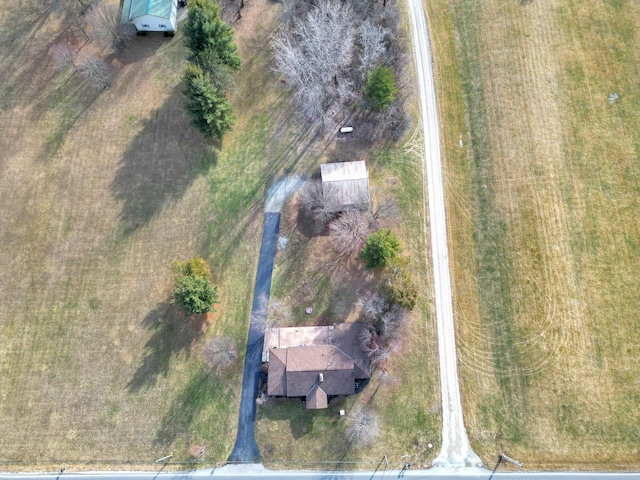
[[260,246],[260,259],[256,284],[253,290],[251,323],[247,340],[247,354],[244,359],[244,377],[242,379],[242,397],[238,414],[238,436],[229,456],[229,462],[257,463],[261,459],[254,430],[256,421],[256,398],[262,366],[262,345],[264,343],[264,325],[267,320],[267,305],[271,290],[271,274],[276,255],[280,213],[264,214],[264,230]]

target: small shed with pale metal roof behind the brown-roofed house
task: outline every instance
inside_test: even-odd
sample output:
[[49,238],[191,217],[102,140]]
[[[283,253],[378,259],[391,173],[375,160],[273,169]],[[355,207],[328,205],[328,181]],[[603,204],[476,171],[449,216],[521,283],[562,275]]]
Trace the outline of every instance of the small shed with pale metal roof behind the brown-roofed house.
[[369,207],[369,172],[364,161],[320,165],[322,196],[326,205],[340,211]]

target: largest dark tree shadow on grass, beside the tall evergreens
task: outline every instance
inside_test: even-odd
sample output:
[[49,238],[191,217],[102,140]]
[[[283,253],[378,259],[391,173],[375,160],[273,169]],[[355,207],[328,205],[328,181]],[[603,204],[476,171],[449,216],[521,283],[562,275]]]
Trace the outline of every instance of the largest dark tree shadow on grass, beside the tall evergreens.
[[191,127],[176,88],[144,127],[120,161],[111,191],[120,201],[125,235],[146,225],[168,203],[178,201],[193,181],[215,165],[212,145]]

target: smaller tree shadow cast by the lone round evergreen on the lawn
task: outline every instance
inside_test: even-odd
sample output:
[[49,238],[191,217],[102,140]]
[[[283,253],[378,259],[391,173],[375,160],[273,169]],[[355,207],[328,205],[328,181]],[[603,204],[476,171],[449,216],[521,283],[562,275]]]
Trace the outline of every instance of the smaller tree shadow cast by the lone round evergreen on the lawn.
[[142,364],[127,384],[130,392],[155,385],[159,376],[169,372],[173,357],[189,355],[191,346],[204,333],[206,317],[187,320],[178,308],[163,302],[147,314],[142,324],[152,335],[144,346]]

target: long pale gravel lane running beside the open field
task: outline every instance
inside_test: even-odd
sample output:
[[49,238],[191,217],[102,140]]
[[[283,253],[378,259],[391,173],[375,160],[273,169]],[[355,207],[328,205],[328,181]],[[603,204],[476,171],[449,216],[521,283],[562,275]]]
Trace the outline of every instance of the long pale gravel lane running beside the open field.
[[418,72],[424,131],[423,173],[427,190],[425,198],[429,204],[434,297],[438,324],[440,388],[442,390],[442,448],[433,464],[446,467],[480,466],[482,461],[471,450],[462,420],[436,92],[429,30],[421,1],[407,0],[407,4],[411,18],[411,38]]

